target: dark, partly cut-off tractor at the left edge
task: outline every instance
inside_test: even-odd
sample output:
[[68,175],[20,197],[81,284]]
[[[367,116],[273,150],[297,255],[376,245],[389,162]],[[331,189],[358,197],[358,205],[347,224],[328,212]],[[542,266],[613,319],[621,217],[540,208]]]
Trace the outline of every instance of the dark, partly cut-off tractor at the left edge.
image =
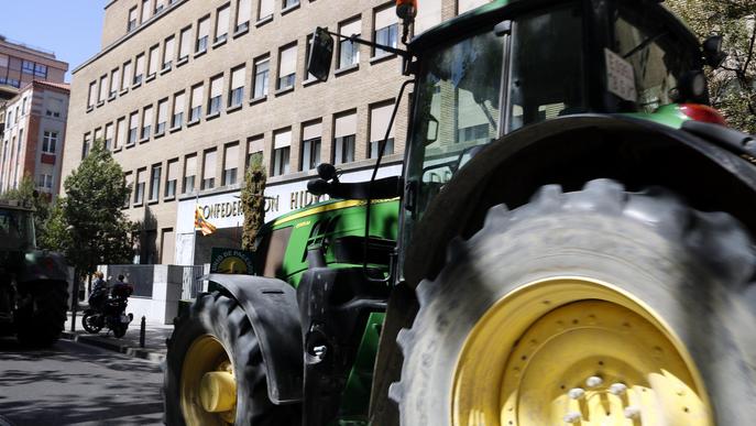
[[66,321],[67,290],[65,259],[36,249],[34,211],[0,200],[0,332],[25,346],[54,343]]

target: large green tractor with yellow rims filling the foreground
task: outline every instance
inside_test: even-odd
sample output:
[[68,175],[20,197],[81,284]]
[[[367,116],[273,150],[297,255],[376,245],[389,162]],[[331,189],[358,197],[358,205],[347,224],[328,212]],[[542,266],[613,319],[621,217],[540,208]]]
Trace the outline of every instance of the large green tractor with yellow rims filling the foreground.
[[721,39],[659,1],[512,0],[381,48],[414,85],[403,175],[308,187],[401,197],[387,263],[373,208],[346,262],[274,230],[264,276],[177,324],[168,424],[753,424],[756,139],[706,106]]

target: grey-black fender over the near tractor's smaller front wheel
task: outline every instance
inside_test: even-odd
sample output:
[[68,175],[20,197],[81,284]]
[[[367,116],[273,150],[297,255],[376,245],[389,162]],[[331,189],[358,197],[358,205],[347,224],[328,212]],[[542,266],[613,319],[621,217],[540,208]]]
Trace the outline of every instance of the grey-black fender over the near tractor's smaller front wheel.
[[302,401],[302,325],[296,291],[263,276],[210,274],[244,309],[260,342],[267,369],[267,394],[274,404]]

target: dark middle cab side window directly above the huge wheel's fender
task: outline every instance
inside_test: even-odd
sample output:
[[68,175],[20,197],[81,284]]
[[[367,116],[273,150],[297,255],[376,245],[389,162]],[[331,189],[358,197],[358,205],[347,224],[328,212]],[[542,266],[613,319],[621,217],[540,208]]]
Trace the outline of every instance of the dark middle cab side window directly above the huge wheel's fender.
[[515,20],[508,130],[585,112],[580,4]]

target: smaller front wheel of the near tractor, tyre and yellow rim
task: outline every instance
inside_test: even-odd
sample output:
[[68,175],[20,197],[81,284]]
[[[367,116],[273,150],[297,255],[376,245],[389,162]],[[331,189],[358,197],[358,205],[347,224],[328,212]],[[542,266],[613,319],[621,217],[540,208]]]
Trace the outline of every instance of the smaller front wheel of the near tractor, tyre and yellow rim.
[[200,294],[175,324],[164,378],[168,426],[287,426],[293,406],[267,395],[265,364],[252,325],[235,299]]

